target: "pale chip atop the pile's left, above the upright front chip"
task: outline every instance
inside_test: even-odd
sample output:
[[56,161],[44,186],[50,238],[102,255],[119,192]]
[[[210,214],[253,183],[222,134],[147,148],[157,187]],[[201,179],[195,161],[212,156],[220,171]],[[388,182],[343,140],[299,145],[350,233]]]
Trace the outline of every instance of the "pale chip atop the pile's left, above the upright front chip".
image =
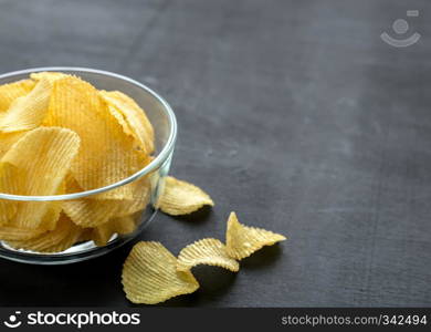
[[52,83],[41,80],[25,96],[17,98],[2,116],[0,132],[12,133],[33,129],[46,116]]

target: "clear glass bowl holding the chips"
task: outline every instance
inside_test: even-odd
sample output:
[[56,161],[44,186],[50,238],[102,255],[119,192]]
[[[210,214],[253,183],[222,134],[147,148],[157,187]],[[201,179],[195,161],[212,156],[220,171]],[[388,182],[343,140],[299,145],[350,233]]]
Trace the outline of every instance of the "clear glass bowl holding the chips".
[[[78,199],[93,199],[97,195],[106,195],[134,186],[138,190],[146,190],[148,204],[132,215],[134,229],[132,232],[118,235],[109,234],[107,243],[97,247],[93,240],[82,237],[81,241],[63,252],[42,253],[23,249],[14,249],[4,241],[0,241],[0,257],[24,263],[35,264],[65,264],[92,259],[120,247],[139,235],[155,218],[155,205],[162,191],[164,179],[167,176],[174,154],[177,137],[177,122],[169,104],[149,87],[129,77],[115,73],[83,69],[83,68],[36,68],[0,75],[0,84],[28,79],[34,72],[64,72],[82,77],[98,90],[120,91],[133,97],[145,110],[155,131],[154,159],[143,169],[132,176],[111,184],[106,187],[87,191],[80,191],[55,196],[19,196],[0,193],[0,200],[14,200],[20,204],[51,204],[54,201],[76,201]],[[1,211],[0,211],[1,212]],[[85,234],[85,232],[84,232]]]

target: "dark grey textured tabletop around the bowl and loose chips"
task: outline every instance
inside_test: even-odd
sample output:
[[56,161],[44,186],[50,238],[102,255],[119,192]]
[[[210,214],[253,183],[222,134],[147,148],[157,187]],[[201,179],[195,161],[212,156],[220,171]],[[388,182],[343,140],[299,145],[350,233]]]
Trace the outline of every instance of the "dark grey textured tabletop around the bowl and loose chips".
[[[0,72],[104,69],[171,103],[172,173],[217,207],[159,215],[143,239],[223,238],[230,210],[290,237],[236,276],[199,269],[201,290],[167,305],[431,305],[430,6],[408,2],[0,0]],[[385,44],[408,9],[422,39]],[[129,249],[1,260],[0,305],[129,305]]]

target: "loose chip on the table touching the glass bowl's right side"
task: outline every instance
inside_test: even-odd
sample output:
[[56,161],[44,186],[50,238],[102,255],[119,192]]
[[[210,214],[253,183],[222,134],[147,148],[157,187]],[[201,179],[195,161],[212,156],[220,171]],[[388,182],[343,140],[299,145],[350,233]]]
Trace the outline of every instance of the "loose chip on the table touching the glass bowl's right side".
[[197,186],[167,176],[165,191],[157,203],[157,207],[171,216],[188,215],[203,206],[214,206],[211,197]]

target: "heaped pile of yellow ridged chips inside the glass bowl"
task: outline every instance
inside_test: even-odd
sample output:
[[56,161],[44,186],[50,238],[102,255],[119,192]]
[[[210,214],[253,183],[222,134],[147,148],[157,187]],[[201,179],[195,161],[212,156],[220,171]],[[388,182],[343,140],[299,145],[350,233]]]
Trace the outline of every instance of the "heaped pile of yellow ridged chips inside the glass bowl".
[[[51,196],[119,181],[151,160],[154,129],[145,112],[118,91],[80,77],[33,73],[0,86],[0,193]],[[0,240],[13,248],[59,252],[136,228],[149,180],[66,201],[0,199]]]

